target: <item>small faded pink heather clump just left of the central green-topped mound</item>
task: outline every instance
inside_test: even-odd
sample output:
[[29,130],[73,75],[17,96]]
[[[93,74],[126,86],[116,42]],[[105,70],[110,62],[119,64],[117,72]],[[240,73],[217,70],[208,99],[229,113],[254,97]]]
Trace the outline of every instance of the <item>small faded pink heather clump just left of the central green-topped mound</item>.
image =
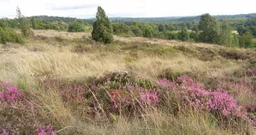
[[75,84],[73,87],[69,86],[60,93],[64,101],[81,101],[84,99],[85,91],[84,87]]

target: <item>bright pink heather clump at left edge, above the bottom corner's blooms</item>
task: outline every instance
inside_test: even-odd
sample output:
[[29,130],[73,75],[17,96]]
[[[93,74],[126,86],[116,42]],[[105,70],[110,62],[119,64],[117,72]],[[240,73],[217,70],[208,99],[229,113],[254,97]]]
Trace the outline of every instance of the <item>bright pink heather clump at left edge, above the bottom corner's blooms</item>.
[[0,102],[2,104],[12,104],[23,98],[22,92],[11,83],[0,83]]

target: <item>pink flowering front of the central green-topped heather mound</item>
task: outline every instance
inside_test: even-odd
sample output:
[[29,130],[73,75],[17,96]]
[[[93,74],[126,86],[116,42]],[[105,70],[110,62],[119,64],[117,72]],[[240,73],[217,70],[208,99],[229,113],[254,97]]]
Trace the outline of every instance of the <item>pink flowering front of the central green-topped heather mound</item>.
[[119,103],[133,105],[138,101],[148,105],[157,105],[159,102],[158,90],[148,90],[139,85],[130,84],[125,87],[119,87],[116,91],[112,91],[111,99],[114,101],[114,108],[118,108]]

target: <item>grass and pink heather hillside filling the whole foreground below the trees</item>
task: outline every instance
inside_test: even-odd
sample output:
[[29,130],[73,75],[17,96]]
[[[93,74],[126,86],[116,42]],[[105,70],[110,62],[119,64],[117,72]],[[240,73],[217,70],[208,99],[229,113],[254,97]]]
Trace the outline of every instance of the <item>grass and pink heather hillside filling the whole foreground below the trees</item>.
[[255,55],[34,30],[23,44],[0,44],[0,127],[20,134],[255,134]]

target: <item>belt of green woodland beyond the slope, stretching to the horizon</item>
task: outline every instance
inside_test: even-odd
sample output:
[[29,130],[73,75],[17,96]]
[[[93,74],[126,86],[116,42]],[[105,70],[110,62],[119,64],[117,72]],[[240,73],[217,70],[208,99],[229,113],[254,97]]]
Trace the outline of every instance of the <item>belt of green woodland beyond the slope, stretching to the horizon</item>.
[[[78,20],[70,17],[23,17],[34,30],[91,32],[95,19]],[[234,16],[110,18],[113,33],[124,37],[157,37],[169,40],[197,41],[230,47],[254,48],[256,14]],[[20,29],[19,19],[2,19],[0,26]],[[233,34],[237,30],[238,34]]]

